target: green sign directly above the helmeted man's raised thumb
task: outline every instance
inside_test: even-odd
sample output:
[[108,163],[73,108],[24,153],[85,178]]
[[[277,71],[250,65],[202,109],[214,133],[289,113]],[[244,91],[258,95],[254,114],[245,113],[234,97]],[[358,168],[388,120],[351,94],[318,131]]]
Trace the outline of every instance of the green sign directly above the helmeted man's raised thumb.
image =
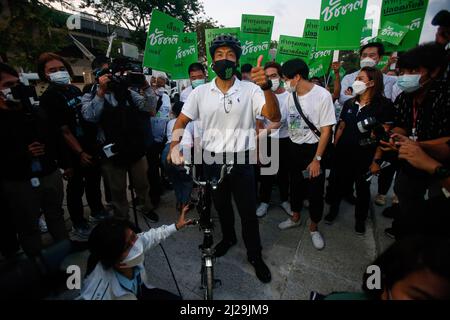
[[273,16],[242,15],[240,65],[249,63],[255,66],[260,55],[264,56],[264,61],[269,60],[274,19]]

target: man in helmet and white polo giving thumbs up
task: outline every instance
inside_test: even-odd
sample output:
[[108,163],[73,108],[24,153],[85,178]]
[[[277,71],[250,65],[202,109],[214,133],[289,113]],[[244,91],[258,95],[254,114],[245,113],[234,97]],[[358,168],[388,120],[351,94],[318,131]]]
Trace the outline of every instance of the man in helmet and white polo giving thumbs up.
[[[174,126],[169,161],[182,165],[183,158],[177,145],[186,125],[199,120],[203,129],[204,155],[223,159],[231,155],[234,162],[231,174],[213,193],[214,206],[219,214],[223,240],[215,247],[215,256],[221,257],[236,244],[233,195],[241,217],[242,237],[247,248],[248,261],[255,268],[256,276],[263,283],[271,281],[271,273],[261,255],[259,224],[256,217],[256,190],[253,166],[249,154],[256,148],[256,116],[272,122],[281,119],[272,84],[261,67],[262,56],[252,70],[252,82],[241,82],[236,68],[242,54],[241,43],[230,35],[216,37],[210,46],[213,70],[217,77],[197,87],[184,104]],[[245,159],[238,161],[236,159]],[[205,161],[211,163],[211,161]],[[243,164],[242,164],[243,163]],[[218,177],[221,164],[204,165],[205,176]]]

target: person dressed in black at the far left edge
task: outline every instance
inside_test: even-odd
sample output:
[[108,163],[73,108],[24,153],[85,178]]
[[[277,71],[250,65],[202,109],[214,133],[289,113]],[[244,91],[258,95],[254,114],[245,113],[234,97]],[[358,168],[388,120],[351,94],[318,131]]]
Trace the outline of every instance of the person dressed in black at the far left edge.
[[27,256],[39,261],[41,209],[55,242],[68,238],[58,170],[68,168],[68,157],[60,153],[66,151],[61,133],[50,130],[45,113],[30,98],[36,98],[34,88],[21,84],[17,72],[0,63],[0,193],[20,245]]

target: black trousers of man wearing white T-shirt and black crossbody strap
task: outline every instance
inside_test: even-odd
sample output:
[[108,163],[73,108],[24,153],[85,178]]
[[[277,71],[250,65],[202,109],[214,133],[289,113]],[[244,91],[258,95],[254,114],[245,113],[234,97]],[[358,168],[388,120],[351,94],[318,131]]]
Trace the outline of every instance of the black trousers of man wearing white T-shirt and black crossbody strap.
[[323,216],[323,192],[325,185],[325,169],[315,179],[305,179],[303,171],[313,161],[318,144],[297,144],[289,142],[291,209],[300,213],[303,201],[309,199],[311,221],[319,223]]

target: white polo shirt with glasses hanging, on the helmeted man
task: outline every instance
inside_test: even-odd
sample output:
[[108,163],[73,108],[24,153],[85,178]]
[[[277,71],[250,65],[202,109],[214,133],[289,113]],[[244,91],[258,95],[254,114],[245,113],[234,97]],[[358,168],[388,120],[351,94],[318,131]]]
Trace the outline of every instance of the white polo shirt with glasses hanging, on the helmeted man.
[[244,152],[256,149],[256,117],[266,99],[261,88],[235,78],[223,94],[216,79],[192,91],[182,113],[200,121],[202,147],[215,153]]

